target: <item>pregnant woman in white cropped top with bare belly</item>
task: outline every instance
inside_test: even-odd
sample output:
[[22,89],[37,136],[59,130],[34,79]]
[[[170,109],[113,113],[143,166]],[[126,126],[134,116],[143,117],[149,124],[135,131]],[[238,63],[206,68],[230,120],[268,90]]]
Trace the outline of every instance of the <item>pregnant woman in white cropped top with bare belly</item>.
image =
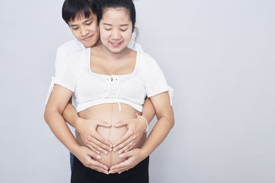
[[[170,88],[151,56],[126,47],[135,27],[135,7],[131,0],[101,0],[98,27],[102,44],[76,51],[56,73],[45,120],[58,140],[75,156],[72,182],[148,182],[148,156],[164,141],[174,124],[168,94]],[[140,117],[145,97],[151,98],[158,121],[148,138],[144,133],[135,147],[126,153],[114,148],[107,155],[95,157],[106,164],[112,174],[89,169],[78,160],[80,151],[87,147],[78,133],[74,138],[62,117],[73,93],[80,117],[110,124],[110,127],[97,128],[110,143],[118,141],[127,131],[126,126],[115,127],[113,124]],[[120,173],[123,171],[121,163],[126,158],[129,171]]]

